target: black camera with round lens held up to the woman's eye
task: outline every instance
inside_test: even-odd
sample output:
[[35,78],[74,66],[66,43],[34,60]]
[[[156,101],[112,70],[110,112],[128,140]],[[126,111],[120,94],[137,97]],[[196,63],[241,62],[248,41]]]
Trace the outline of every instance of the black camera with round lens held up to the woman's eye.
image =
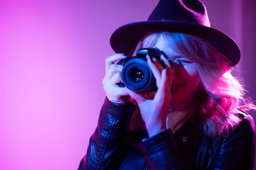
[[158,48],[141,48],[137,50],[136,56],[122,59],[117,63],[124,65],[122,70],[124,84],[119,84],[120,87],[126,86],[135,92],[157,91],[155,77],[147,63],[147,54],[150,58],[155,57],[164,67],[164,63],[160,59],[162,52]]

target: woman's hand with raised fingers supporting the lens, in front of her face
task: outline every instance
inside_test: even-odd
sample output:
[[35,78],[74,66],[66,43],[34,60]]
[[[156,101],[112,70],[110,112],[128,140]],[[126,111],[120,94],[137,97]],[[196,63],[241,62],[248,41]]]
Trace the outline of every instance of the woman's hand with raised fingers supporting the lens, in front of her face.
[[[155,76],[157,92],[153,97],[149,93],[133,92],[127,89],[128,94],[137,101],[141,116],[146,124],[149,137],[156,135],[166,129],[166,116],[168,106],[171,102],[171,85],[173,81],[173,70],[169,61],[162,57],[165,67],[153,58],[153,62],[147,56],[147,62]],[[153,92],[150,92],[153,93]],[[151,95],[152,96],[152,95]]]

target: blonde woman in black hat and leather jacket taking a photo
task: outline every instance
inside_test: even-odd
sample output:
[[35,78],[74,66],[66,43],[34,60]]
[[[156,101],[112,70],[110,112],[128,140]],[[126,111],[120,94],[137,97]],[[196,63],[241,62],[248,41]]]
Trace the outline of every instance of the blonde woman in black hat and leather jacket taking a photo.
[[[120,27],[110,44],[117,54],[106,59],[107,98],[79,169],[253,168],[255,127],[245,111],[255,105],[231,75],[240,51],[210,28],[202,2],[160,0],[147,22]],[[164,64],[147,55],[157,91],[120,87],[121,52],[146,47],[162,51]]]

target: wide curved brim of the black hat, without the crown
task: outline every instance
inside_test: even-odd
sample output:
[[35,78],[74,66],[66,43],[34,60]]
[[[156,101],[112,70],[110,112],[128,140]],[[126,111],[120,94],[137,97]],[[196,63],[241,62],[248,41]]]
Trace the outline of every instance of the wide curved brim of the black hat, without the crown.
[[240,60],[240,49],[231,37],[214,28],[190,22],[145,21],[126,24],[111,35],[110,45],[116,53],[130,53],[146,34],[159,31],[186,33],[200,37],[226,55],[231,61],[231,66],[236,65]]

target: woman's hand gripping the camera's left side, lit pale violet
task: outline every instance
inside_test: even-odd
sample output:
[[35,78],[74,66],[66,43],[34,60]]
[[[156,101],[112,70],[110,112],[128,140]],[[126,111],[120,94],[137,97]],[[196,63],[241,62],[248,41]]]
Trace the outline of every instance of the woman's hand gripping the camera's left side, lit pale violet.
[[130,96],[124,87],[119,87],[118,83],[123,83],[121,72],[123,65],[115,64],[116,61],[125,59],[123,54],[115,54],[106,58],[106,72],[102,84],[108,100],[117,104],[128,104]]

